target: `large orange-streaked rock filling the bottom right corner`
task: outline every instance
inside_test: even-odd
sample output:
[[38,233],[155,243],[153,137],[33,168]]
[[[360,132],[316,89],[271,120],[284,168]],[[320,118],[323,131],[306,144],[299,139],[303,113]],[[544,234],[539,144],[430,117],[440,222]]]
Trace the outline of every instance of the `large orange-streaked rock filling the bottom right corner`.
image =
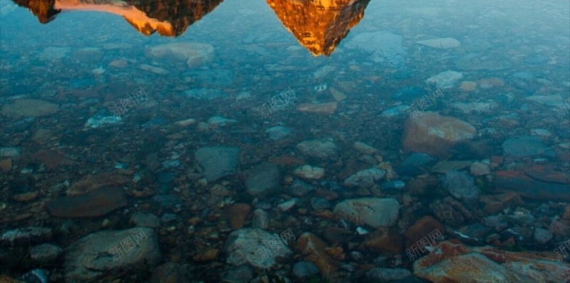
[[564,262],[492,247],[470,248],[458,240],[441,242],[416,260],[414,275],[430,282],[564,282]]

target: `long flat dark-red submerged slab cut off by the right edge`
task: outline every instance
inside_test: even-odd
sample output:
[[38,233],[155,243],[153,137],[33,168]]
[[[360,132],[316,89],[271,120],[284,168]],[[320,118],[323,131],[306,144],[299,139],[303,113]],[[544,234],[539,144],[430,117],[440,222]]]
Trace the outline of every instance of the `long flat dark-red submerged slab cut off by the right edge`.
[[519,192],[523,197],[535,200],[570,201],[568,184],[534,180],[523,171],[497,171],[495,187]]

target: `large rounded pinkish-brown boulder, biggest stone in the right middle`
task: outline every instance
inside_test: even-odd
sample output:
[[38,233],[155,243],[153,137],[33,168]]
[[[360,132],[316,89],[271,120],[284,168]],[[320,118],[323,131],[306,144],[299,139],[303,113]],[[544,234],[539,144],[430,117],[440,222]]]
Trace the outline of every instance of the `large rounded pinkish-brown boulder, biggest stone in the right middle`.
[[473,138],[475,134],[477,130],[462,120],[434,112],[420,112],[405,123],[403,148],[447,158],[449,148]]

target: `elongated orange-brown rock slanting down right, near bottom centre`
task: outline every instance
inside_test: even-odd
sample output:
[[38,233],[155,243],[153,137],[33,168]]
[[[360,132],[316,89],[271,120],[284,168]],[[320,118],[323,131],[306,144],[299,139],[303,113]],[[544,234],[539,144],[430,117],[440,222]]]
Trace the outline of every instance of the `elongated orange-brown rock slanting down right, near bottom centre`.
[[297,240],[296,249],[303,254],[305,260],[313,262],[322,274],[336,270],[336,264],[326,252],[326,242],[310,232],[304,232]]

